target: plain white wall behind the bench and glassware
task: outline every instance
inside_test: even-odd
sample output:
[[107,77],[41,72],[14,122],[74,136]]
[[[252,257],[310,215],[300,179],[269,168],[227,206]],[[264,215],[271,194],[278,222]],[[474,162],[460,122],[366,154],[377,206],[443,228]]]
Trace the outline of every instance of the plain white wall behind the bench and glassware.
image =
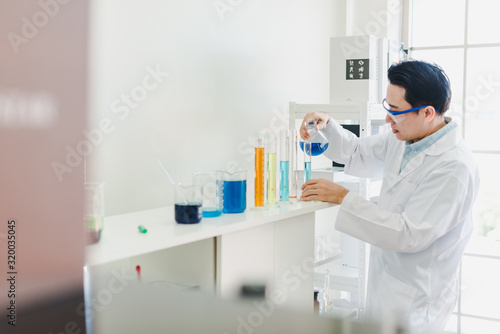
[[328,103],[345,12],[345,0],[92,1],[87,179],[106,182],[106,215],[173,204],[157,157],[178,182],[239,166],[252,188],[253,135],[287,126],[289,101]]

